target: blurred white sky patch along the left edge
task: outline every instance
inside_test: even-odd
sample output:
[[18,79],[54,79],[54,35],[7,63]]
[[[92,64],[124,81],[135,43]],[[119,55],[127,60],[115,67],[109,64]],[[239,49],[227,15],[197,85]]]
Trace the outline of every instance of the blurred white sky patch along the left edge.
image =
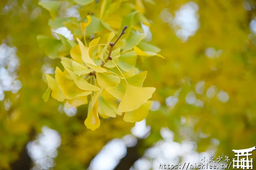
[[13,94],[17,93],[22,84],[18,80],[17,71],[20,67],[20,60],[16,55],[17,49],[0,45],[0,101],[4,100],[4,92],[11,91]]

